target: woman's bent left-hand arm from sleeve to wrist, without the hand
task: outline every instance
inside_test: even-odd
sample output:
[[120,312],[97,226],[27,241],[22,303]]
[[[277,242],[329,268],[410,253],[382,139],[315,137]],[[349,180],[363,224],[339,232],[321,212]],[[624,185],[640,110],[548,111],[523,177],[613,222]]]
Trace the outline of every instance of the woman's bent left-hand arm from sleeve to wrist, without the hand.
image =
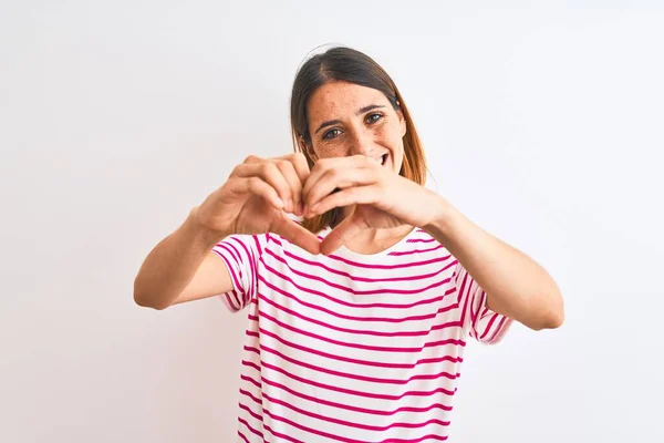
[[227,235],[204,228],[191,210],[185,223],[149,253],[134,280],[137,305],[165,309],[232,289],[228,268],[211,248]]

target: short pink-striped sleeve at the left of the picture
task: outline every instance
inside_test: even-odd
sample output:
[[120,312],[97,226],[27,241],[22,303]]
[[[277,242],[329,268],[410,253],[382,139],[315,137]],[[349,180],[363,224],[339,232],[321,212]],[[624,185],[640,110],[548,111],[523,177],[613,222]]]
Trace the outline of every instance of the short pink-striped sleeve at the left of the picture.
[[237,312],[256,297],[261,239],[253,235],[234,235],[219,241],[212,251],[226,264],[232,282],[232,289],[219,297],[230,311]]

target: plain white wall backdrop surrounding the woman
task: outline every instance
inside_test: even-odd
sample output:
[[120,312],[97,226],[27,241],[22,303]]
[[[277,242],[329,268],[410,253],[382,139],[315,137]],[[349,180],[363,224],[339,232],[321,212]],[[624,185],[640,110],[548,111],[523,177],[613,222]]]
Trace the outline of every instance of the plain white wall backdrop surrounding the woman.
[[663,22],[655,1],[0,1],[0,441],[235,441],[245,313],[138,308],[133,280],[236,164],[292,150],[323,44],[387,70],[429,186],[566,298],[559,330],[469,344],[450,441],[664,441]]

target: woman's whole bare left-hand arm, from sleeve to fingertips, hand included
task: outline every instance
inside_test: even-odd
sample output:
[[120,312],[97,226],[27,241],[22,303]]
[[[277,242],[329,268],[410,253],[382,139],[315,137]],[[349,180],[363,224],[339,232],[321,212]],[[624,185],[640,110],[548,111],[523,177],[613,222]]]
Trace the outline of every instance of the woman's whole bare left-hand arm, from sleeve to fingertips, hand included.
[[309,166],[301,154],[268,159],[247,157],[219,189],[149,253],[134,280],[136,303],[165,309],[231,291],[229,269],[211,251],[231,235],[273,231],[318,254],[318,237],[283,212],[283,202],[291,202],[287,210],[299,206],[302,181],[308,175]]

